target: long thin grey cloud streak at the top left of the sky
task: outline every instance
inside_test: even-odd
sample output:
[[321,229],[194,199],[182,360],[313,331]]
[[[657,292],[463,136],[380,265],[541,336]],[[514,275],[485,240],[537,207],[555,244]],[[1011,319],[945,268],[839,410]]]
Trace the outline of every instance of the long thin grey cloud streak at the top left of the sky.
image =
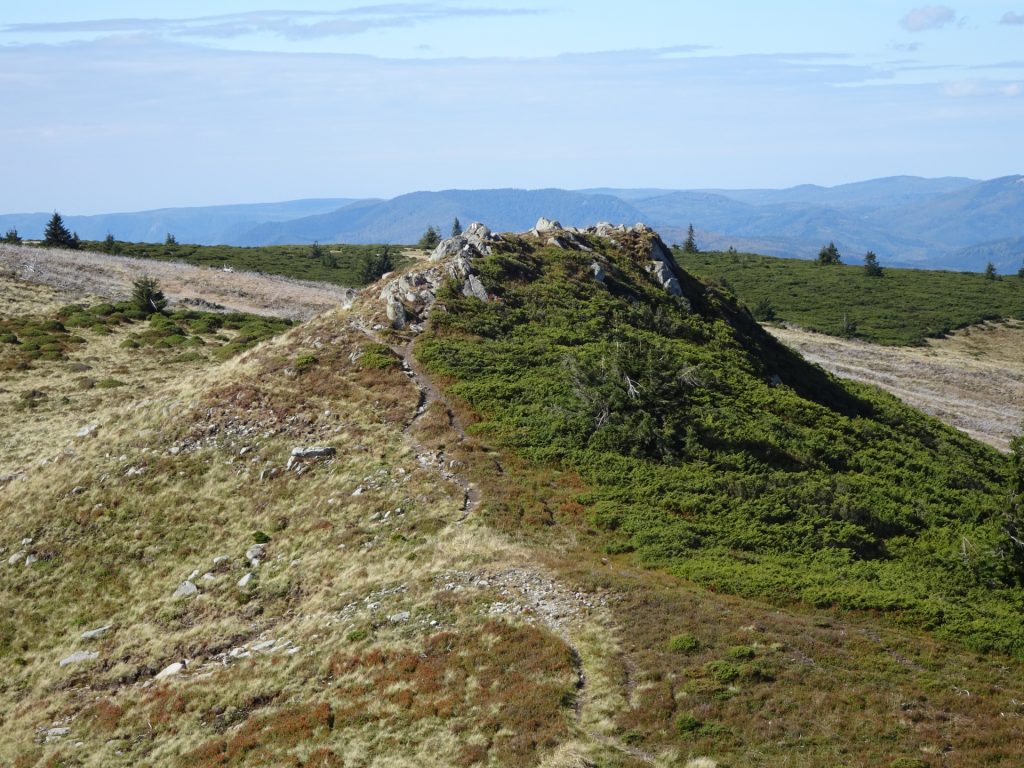
[[275,35],[289,40],[349,37],[374,29],[414,27],[450,18],[539,15],[542,8],[456,7],[443,3],[392,3],[341,11],[265,10],[186,18],[98,18],[82,22],[14,24],[8,34],[159,35],[168,38],[229,39]]

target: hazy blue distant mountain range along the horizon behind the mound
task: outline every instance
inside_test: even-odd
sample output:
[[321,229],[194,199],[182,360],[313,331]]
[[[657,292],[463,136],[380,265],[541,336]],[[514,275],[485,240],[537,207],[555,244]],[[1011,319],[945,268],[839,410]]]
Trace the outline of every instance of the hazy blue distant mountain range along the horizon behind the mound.
[[[0,215],[0,230],[42,234],[49,213]],[[706,249],[811,258],[834,241],[847,262],[874,251],[883,264],[1016,272],[1024,259],[1024,176],[988,181],[893,176],[786,189],[447,189],[392,200],[169,208],[65,216],[88,240],[258,246],[285,243],[415,243],[428,225],[446,232],[483,221],[522,231],[541,216],[566,226],[642,221],[670,241],[696,228]]]

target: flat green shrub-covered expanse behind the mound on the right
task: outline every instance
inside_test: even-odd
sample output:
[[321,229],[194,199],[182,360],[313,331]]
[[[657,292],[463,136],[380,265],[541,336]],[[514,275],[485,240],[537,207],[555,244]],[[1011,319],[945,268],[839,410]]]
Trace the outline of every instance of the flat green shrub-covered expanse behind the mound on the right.
[[984,319],[1024,318],[1024,280],[1016,276],[885,268],[869,278],[859,264],[718,252],[677,252],[677,258],[749,307],[769,302],[779,321],[838,336],[846,318],[858,337],[880,344],[920,344]]

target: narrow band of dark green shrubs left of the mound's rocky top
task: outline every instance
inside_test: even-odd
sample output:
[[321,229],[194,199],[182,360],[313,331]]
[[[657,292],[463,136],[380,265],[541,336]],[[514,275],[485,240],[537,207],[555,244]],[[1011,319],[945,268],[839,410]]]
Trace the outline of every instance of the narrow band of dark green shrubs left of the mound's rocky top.
[[[308,246],[195,246],[183,244],[123,243],[83,241],[88,251],[115,253],[137,259],[182,261],[186,264],[230,267],[252,272],[282,274],[286,278],[333,283],[340,286],[362,286],[379,274],[368,274],[372,264],[385,248],[382,245],[313,244]],[[390,246],[393,268],[409,263],[401,248]],[[371,279],[372,278],[372,279]]]

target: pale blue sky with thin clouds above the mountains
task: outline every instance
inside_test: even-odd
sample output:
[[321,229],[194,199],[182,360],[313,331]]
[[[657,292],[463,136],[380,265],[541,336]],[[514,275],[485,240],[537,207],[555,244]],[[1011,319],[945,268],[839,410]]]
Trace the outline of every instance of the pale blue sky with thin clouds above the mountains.
[[1024,0],[5,0],[0,212],[1024,172]]

